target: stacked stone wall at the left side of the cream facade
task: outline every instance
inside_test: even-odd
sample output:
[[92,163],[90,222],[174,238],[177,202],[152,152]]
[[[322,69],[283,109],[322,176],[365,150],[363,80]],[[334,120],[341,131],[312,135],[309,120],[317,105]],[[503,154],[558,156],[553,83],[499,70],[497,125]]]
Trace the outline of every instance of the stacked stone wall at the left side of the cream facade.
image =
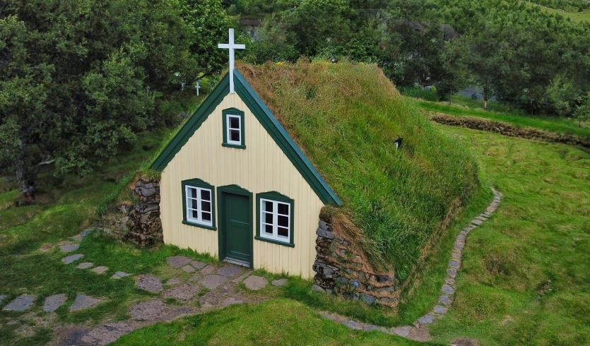
[[131,201],[120,203],[103,215],[98,221],[98,229],[143,247],[161,243],[159,181],[141,177],[129,189]]

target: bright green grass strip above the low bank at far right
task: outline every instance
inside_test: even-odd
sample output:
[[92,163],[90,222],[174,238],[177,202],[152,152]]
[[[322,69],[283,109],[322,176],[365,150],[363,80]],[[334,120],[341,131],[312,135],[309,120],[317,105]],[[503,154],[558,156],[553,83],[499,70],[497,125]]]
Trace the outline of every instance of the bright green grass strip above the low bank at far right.
[[577,122],[563,117],[531,116],[522,112],[490,112],[483,109],[472,109],[457,105],[449,106],[448,103],[444,102],[428,102],[424,100],[417,100],[416,103],[418,107],[430,112],[451,114],[456,117],[480,117],[504,121],[518,126],[590,138],[590,127],[587,124],[578,127]]

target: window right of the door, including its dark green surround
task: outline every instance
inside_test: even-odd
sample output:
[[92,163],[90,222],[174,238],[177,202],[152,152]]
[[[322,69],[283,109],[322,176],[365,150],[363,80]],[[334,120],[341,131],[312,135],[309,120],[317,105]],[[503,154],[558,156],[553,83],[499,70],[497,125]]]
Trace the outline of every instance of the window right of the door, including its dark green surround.
[[259,193],[255,239],[293,247],[293,200],[277,192]]

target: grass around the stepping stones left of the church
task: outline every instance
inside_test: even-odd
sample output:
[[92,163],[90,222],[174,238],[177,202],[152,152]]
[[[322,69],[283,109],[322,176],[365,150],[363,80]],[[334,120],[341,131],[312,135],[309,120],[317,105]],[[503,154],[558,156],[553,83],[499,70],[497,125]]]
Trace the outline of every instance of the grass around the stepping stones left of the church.
[[[138,290],[131,278],[112,280],[117,270],[127,273],[157,273],[162,278],[170,277],[165,258],[177,253],[187,253],[203,261],[212,261],[208,256],[200,256],[192,251],[181,251],[173,246],[160,249],[136,249],[122,244],[110,237],[87,237],[78,250],[85,257],[81,261],[91,261],[96,266],[107,266],[110,270],[97,275],[90,270],[76,268],[76,264],[61,263],[64,253],[53,248],[40,251],[45,243],[68,239],[81,232],[83,227],[93,225],[96,205],[111,191],[117,189],[126,172],[134,171],[141,162],[158,150],[165,133],[143,133],[141,141],[126,155],[117,157],[85,177],[54,177],[47,171],[37,181],[37,203],[18,206],[13,200],[18,190],[6,189],[0,193],[0,294],[8,297],[0,303],[0,308],[20,294],[36,294],[34,310],[42,307],[45,297],[51,294],[66,293],[69,303],[78,292],[90,294],[105,300],[95,309],[69,313],[66,304],[57,310],[56,323],[83,323],[92,325],[102,318],[126,318],[131,302],[152,297]],[[16,191],[16,192],[15,192]],[[1,345],[43,345],[51,338],[51,330],[36,328],[37,333],[30,338],[20,338],[16,330],[26,319],[23,314],[0,311]],[[7,323],[16,318],[19,323]]]

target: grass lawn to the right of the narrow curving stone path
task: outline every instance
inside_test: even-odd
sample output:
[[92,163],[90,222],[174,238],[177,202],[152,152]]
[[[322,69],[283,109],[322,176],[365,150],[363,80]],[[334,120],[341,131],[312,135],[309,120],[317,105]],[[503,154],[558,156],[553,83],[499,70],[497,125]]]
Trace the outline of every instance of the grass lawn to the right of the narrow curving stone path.
[[567,145],[437,126],[468,141],[482,178],[505,194],[471,232],[456,303],[435,340],[590,344],[590,153]]

